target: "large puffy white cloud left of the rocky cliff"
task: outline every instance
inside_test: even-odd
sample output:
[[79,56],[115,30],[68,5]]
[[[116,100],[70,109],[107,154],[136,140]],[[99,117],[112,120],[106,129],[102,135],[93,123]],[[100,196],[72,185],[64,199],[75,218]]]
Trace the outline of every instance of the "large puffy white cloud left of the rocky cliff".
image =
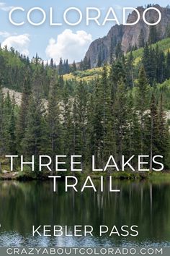
[[86,54],[86,50],[91,43],[91,34],[84,30],[76,31],[66,29],[58,35],[57,40],[50,38],[46,48],[46,56],[53,58],[57,63],[62,59],[68,59],[68,62],[80,61]]

